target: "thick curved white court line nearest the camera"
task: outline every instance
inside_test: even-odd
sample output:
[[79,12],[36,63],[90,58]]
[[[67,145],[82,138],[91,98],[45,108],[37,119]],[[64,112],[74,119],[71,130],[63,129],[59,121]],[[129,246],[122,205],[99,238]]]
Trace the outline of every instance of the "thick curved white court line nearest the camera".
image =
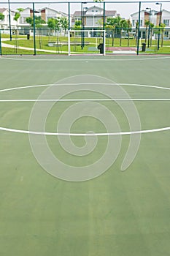
[[134,135],[134,134],[144,134],[151,132],[163,132],[170,130],[170,127],[158,128],[158,129],[144,129],[141,131],[134,132],[105,132],[105,133],[63,133],[63,132],[33,132],[26,131],[23,129],[9,129],[5,127],[0,127],[1,131],[6,132],[17,132],[17,133],[25,133],[31,135],[53,135],[53,136],[116,136],[116,135]]

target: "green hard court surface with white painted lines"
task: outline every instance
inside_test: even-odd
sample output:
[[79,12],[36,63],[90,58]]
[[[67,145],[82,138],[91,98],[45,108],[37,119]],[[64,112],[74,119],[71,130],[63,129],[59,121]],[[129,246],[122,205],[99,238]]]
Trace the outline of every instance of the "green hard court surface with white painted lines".
[[[163,130],[170,127],[169,65],[169,56],[0,58],[0,255],[169,255],[170,128]],[[39,94],[66,78],[67,83],[70,81],[67,84],[69,90],[73,78],[78,75],[82,84],[85,77],[81,80],[81,75],[95,75],[98,88],[102,78],[120,84],[120,88],[135,99],[142,131],[160,131],[141,134],[139,150],[127,170],[121,171],[120,167],[128,150],[130,135],[122,135],[120,153],[106,172],[89,181],[71,182],[47,173],[34,157],[28,133],[18,130],[29,130],[29,118]],[[61,89],[64,89],[66,85],[61,83]],[[93,89],[94,80],[90,83]],[[112,91],[112,85],[109,86]],[[101,88],[107,87],[102,83]],[[56,88],[57,92],[60,91],[59,87]],[[50,99],[48,91],[45,99]],[[63,99],[67,100],[55,102],[51,108],[45,124],[46,132],[56,132],[61,114],[81,99],[93,99],[109,109],[122,132],[131,130],[118,103],[107,101],[98,92],[77,91]],[[107,133],[104,124],[90,116],[95,111],[101,113],[101,117],[105,114],[100,107],[90,109],[89,104],[86,102],[84,109],[90,111],[89,116],[81,117],[81,111],[77,112],[71,133]],[[125,102],[127,110],[129,104]],[[60,132],[65,133],[65,128]],[[40,151],[43,151],[42,135],[35,136],[40,138]],[[66,152],[59,137],[46,136],[54,156],[78,168],[100,159],[109,139],[109,135],[98,136],[96,148],[80,157]],[[72,143],[81,149],[85,146],[85,138],[74,136]],[[112,158],[112,152],[109,154]]]

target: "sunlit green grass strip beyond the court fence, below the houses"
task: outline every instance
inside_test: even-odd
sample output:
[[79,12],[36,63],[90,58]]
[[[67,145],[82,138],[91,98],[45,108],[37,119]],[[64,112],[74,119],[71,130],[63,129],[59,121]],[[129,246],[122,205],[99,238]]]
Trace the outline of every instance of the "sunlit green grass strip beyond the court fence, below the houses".
[[[9,38],[9,35],[5,35],[2,34],[2,39],[4,38]],[[26,39],[26,36],[23,35],[18,35],[18,46],[19,47],[25,47],[25,48],[30,48],[30,49],[34,49],[34,38],[30,37],[29,40]],[[45,37],[45,36],[36,36],[36,50],[37,50],[37,54],[55,54],[55,53],[60,53],[60,54],[67,54],[68,53],[68,45],[62,45],[60,46],[49,46],[48,42],[53,41],[53,42],[58,42],[58,45],[60,45],[60,43],[62,42],[68,42],[68,38],[67,37]],[[99,43],[101,43],[102,39],[100,37],[95,38],[95,37],[86,37],[85,38],[85,47],[82,49],[81,48],[81,37],[80,35],[77,37],[71,37],[71,42],[74,43],[75,45],[71,45],[71,52],[72,53],[98,53],[99,51],[97,50],[97,46],[99,45]],[[80,42],[80,45],[76,45],[76,42]],[[142,43],[145,42],[144,39],[141,39],[139,42],[139,53],[142,53]],[[12,36],[12,41],[7,40],[5,41],[6,44],[8,45],[16,45],[16,37],[15,35]],[[128,47],[128,39],[121,39],[121,43],[120,43],[120,39],[119,38],[115,38],[114,41],[112,42],[112,38],[106,38],[106,52],[107,53],[112,53],[112,50],[109,50],[108,48],[114,46],[114,47]],[[146,53],[154,53],[154,54],[169,54],[170,53],[170,41],[169,39],[164,39],[163,40],[163,46],[161,47],[161,42],[160,42],[160,49],[157,50],[157,45],[158,42],[155,39],[152,39],[152,46],[150,46],[150,48],[146,48]],[[136,48],[136,40],[135,39],[129,39],[129,47],[131,48]],[[95,50],[96,48],[96,50]],[[8,50],[9,49],[9,50]],[[39,49],[41,50],[50,50],[50,52],[43,52],[43,51],[39,51]],[[18,50],[19,54],[32,54],[32,50],[24,50],[24,49],[20,49]],[[2,55],[6,55],[6,54],[15,54],[15,50],[10,49],[10,48],[5,48],[2,47]]]

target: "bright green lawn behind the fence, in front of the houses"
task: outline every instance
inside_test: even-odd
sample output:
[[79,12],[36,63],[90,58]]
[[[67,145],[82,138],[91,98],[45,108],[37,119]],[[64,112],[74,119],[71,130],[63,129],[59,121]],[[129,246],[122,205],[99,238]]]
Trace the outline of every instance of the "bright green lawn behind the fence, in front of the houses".
[[[9,37],[9,36],[8,36]],[[26,36],[19,36],[18,40],[18,45],[20,47],[26,47],[26,48],[34,48],[34,39],[31,37],[29,40],[26,39]],[[24,38],[24,39],[23,39]],[[58,45],[56,46],[48,46],[48,42],[57,42]],[[67,37],[38,37],[36,36],[36,49],[44,49],[44,50],[53,50],[55,53],[68,53],[68,45],[62,45],[60,44],[62,42],[68,42]],[[71,52],[72,53],[98,53],[98,50],[94,50],[97,48],[99,43],[101,42],[101,38],[85,38],[85,47],[82,49],[81,45],[76,45],[76,42],[80,42],[81,44],[81,37],[71,37],[71,42],[75,42],[75,45],[71,45]],[[145,42],[144,39],[140,40],[140,45]],[[13,36],[12,41],[5,41],[5,43],[9,45],[15,45],[16,40],[15,36]],[[164,40],[163,41],[163,47],[161,47],[161,42],[160,42],[160,50],[156,50],[156,45],[158,42],[156,40],[152,40],[152,47],[147,49],[147,53],[165,53],[169,54],[170,53],[170,45],[169,45],[169,40]],[[113,45],[115,47],[120,47],[120,39],[115,38]],[[122,47],[127,47],[128,45],[128,39],[122,39],[121,40],[121,46]],[[112,38],[106,38],[106,46],[111,47],[112,46]],[[136,47],[136,40],[135,39],[130,39],[129,40],[129,47]],[[5,50],[5,54],[9,53],[11,54],[12,50]],[[20,50],[22,54],[25,53],[24,50]],[[107,51],[109,53],[109,51]],[[3,52],[2,52],[3,53]],[[4,54],[4,53],[3,53]],[[37,54],[43,54],[41,52],[37,51]],[[49,53],[50,54],[50,53]]]

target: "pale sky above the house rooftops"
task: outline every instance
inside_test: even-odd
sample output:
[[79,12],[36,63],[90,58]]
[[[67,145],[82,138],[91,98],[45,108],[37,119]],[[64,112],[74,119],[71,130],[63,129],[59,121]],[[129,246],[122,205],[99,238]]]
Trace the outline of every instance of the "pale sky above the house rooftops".
[[[2,0],[3,1],[3,0]],[[68,2],[69,0],[50,0],[50,1],[47,1],[47,0],[40,0],[41,2],[46,2],[45,4],[37,4],[39,1],[38,0],[26,0],[26,1],[23,1],[23,0],[10,0],[10,4],[11,4],[11,9],[12,10],[15,10],[16,8],[18,7],[23,7],[23,8],[26,8],[26,7],[32,7],[32,3],[34,2],[35,3],[35,7],[36,9],[40,9],[42,7],[50,7],[52,9],[55,9],[55,10],[60,10],[62,12],[67,12],[68,13]],[[73,0],[74,1],[74,4],[72,3],[71,4],[71,14],[74,13],[75,10],[81,10],[81,4],[80,4],[80,0]],[[83,0],[82,0],[83,1]],[[132,0],[133,1],[133,0]],[[12,4],[14,2],[18,2],[18,4]],[[26,2],[29,2],[31,4],[23,4],[23,3],[26,3]],[[55,2],[55,3],[54,3]],[[58,4],[56,4],[57,2],[60,2]],[[64,3],[65,2],[65,3]],[[83,1],[85,2],[85,1]],[[91,1],[93,2],[93,1]],[[112,2],[112,0],[107,0],[107,2]],[[170,12],[170,0],[169,2],[163,2],[163,1],[160,1],[162,3],[162,9],[163,10],[168,10]],[[7,7],[7,4],[4,4],[4,3],[7,3],[7,0],[4,0],[3,1],[3,4],[2,2],[0,3],[0,7]],[[83,7],[90,7],[90,6],[93,6],[93,5],[96,5],[98,7],[103,7],[103,3],[101,2],[101,4],[98,2],[98,3],[91,3],[91,4],[83,4]],[[151,8],[152,10],[160,10],[160,5],[156,5],[155,3],[153,2],[149,2],[149,1],[145,1],[142,2],[142,10],[145,10],[146,7],[149,7]],[[138,12],[139,11],[139,0],[134,0],[134,3],[129,3],[129,1],[125,1],[124,0],[124,3],[121,4],[121,1],[117,0],[117,3],[106,3],[106,10],[117,10],[117,13],[120,13],[120,17],[121,18],[130,18],[130,15],[134,12]]]

